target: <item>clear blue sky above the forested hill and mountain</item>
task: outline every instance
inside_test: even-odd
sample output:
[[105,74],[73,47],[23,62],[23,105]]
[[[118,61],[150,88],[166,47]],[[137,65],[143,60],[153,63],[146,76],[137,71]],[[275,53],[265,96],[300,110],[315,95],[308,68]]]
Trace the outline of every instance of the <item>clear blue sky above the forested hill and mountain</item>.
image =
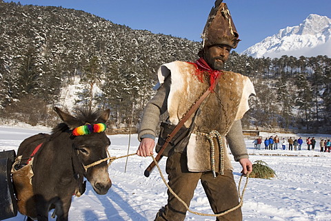
[[[8,0],[5,0],[8,2]],[[214,0],[21,0],[21,4],[62,6],[90,12],[113,23],[193,41],[200,36]],[[331,18],[331,0],[228,0],[239,32],[237,52],[281,28],[299,25],[309,14]]]

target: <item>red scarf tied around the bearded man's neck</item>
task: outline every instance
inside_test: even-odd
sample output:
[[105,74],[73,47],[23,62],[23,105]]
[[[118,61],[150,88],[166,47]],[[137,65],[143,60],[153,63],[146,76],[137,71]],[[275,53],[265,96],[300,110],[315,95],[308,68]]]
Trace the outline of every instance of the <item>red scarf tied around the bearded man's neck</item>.
[[195,73],[198,76],[199,81],[203,82],[203,72],[207,72],[209,74],[209,82],[210,87],[209,90],[214,90],[215,87],[215,80],[219,74],[223,74],[223,72],[218,70],[213,70],[212,67],[208,65],[207,62],[205,62],[205,59],[202,57],[195,61],[195,63],[191,63],[195,67],[197,67],[197,72]]

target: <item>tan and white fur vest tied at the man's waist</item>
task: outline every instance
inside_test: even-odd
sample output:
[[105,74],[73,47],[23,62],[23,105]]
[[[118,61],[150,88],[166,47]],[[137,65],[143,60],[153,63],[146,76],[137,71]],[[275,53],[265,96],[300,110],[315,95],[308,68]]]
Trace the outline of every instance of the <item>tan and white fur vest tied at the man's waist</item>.
[[[162,84],[168,75],[171,76],[168,112],[169,120],[174,125],[179,123],[192,104],[210,87],[208,73],[203,76],[203,82],[199,81],[195,73],[194,65],[182,61],[166,63],[159,68],[159,83]],[[201,105],[201,112],[195,120],[186,149],[189,171],[210,171],[212,163],[216,172],[232,169],[225,136],[234,120],[240,120],[248,111],[248,98],[251,94],[254,94],[254,87],[247,76],[223,72],[214,92]],[[192,117],[185,122],[186,127],[192,123]],[[211,138],[214,141],[211,142],[205,136],[210,131],[218,131],[221,137]],[[211,149],[211,146],[214,148]],[[214,154],[213,161],[211,154]]]

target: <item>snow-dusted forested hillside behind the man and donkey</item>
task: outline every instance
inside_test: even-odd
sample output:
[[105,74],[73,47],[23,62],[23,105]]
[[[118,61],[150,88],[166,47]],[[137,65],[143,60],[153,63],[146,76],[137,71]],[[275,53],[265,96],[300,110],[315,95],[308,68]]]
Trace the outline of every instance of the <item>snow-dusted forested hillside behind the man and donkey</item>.
[[[137,127],[159,65],[194,61],[201,43],[132,30],[87,12],[0,0],[1,118],[54,125],[61,90],[79,83],[75,107],[111,109],[111,128]],[[254,59],[232,52],[225,70],[252,79],[245,129],[330,131],[327,56]],[[133,119],[131,119],[133,116]]]

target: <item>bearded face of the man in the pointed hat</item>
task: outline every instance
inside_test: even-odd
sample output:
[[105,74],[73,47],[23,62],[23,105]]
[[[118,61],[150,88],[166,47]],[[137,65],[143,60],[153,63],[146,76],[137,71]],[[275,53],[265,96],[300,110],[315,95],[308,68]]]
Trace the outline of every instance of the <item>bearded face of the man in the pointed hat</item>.
[[213,45],[203,55],[203,59],[214,70],[222,70],[225,61],[228,61],[231,47],[228,45]]

